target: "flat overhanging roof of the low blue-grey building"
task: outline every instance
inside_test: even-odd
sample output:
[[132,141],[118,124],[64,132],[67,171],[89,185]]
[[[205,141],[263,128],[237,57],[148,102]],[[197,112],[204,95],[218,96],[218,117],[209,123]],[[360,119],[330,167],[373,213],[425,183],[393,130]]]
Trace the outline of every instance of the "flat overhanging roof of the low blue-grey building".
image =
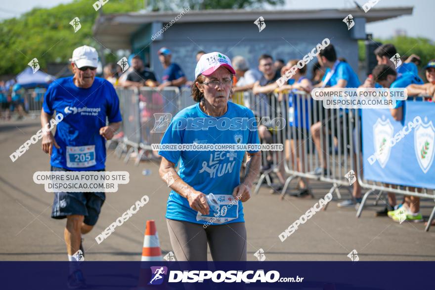
[[[412,6],[372,8],[370,13],[362,9],[317,9],[317,10],[245,10],[245,9],[219,9],[219,10],[190,10],[185,12],[177,20],[179,23],[195,22],[238,22],[253,21],[261,15],[268,21],[291,21],[291,20],[325,20],[343,19],[348,14],[354,18],[365,18],[366,23],[391,19],[402,15],[411,15]],[[159,11],[159,12],[130,12],[115,14],[100,14],[95,20],[93,34],[97,41],[104,43],[104,46],[111,49],[129,49],[131,34],[141,26],[160,21],[171,22],[180,12]]]

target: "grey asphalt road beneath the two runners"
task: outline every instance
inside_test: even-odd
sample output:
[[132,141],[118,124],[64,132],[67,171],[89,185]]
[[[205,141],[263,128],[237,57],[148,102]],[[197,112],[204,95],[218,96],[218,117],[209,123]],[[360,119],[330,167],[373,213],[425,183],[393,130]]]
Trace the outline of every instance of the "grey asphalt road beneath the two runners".
[[[41,150],[41,142],[14,163],[9,155],[35,134],[40,127],[37,120],[0,124],[0,260],[66,260],[63,241],[65,220],[50,218],[53,194],[46,193],[43,185],[35,184],[35,171],[49,170],[49,157]],[[164,254],[171,249],[166,227],[166,200],[168,187],[158,176],[158,164],[143,162],[134,166],[124,164],[113,151],[108,152],[106,169],[128,171],[130,182],[120,185],[117,193],[107,193],[98,223],[85,235],[87,260],[140,260],[145,223],[154,219]],[[143,169],[150,175],[142,175]],[[224,182],[224,181],[222,181]],[[261,188],[245,205],[248,233],[248,260],[256,260],[254,253],[263,249],[266,260],[291,261],[346,261],[348,253],[356,249],[360,261],[367,260],[434,260],[435,227],[424,231],[423,223],[398,224],[388,217],[375,217],[372,206],[364,209],[361,218],[352,208],[342,209],[331,201],[326,211],[317,212],[284,242],[278,235],[318,199],[325,196],[330,186],[312,182],[314,199],[286,198]],[[346,198],[348,193],[342,191]],[[95,237],[114,222],[143,195],[149,202],[101,244]],[[422,213],[428,218],[433,201],[422,202]],[[209,259],[211,256],[209,254]]]

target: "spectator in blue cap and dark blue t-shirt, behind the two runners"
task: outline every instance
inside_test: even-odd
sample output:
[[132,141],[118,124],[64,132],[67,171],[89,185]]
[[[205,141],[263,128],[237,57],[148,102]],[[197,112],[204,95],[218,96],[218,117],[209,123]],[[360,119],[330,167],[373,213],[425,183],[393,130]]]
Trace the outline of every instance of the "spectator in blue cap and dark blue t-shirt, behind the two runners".
[[163,71],[162,84],[159,85],[159,89],[165,86],[182,86],[187,82],[187,79],[181,70],[180,66],[171,62],[172,54],[171,50],[166,47],[162,47],[158,51],[159,60],[162,63]]

